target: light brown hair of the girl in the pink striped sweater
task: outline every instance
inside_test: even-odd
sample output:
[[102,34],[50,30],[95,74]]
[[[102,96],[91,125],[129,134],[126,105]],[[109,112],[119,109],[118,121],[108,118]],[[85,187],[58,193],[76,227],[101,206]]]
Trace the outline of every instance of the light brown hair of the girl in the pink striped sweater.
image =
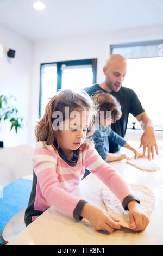
[[[46,106],[45,114],[43,118],[39,121],[35,127],[35,135],[37,141],[43,141],[46,145],[57,145],[57,149],[60,147],[60,139],[58,136],[58,131],[53,128],[53,118],[52,115],[55,111],[62,112],[62,121],[65,120],[65,107],[69,107],[69,112],[71,113],[74,109],[79,112],[89,111],[91,115],[90,126],[88,127],[86,137],[91,136],[95,132],[95,125],[93,124],[93,119],[97,114],[97,106],[91,100],[90,96],[86,92],[75,93],[72,90],[66,89],[59,91],[57,95],[51,98]],[[83,145],[88,143],[86,140]]]

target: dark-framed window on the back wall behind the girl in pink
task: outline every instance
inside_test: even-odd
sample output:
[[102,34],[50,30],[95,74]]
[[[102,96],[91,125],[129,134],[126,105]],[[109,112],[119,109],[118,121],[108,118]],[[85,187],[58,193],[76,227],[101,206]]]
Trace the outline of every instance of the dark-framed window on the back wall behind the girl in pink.
[[40,68],[39,117],[59,89],[75,92],[96,83],[97,59],[43,63]]

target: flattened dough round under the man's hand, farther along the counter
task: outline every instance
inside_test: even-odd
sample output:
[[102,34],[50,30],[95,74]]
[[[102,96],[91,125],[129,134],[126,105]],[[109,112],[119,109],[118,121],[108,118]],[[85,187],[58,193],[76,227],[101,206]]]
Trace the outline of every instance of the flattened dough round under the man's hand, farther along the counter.
[[139,157],[138,159],[129,159],[126,161],[128,164],[135,166],[141,170],[148,170],[148,172],[154,172],[155,170],[159,170],[160,167],[158,164],[152,162],[152,160],[148,160],[147,158]]

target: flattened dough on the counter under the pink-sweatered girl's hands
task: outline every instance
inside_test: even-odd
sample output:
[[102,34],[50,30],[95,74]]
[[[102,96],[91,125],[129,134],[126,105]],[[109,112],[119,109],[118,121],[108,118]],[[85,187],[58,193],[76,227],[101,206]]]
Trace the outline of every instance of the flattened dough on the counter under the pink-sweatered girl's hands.
[[[148,216],[152,214],[155,208],[155,196],[154,193],[146,186],[139,184],[129,184],[133,194],[140,199],[140,206]],[[120,220],[118,222],[122,227],[130,228],[129,211],[123,209],[121,202],[118,198],[109,190],[108,187],[103,186],[101,188],[101,198],[108,213]]]

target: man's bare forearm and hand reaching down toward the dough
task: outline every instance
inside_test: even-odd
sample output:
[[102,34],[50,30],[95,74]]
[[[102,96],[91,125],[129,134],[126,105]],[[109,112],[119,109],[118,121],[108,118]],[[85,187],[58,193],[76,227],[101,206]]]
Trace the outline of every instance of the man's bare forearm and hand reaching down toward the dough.
[[142,157],[145,157],[146,154],[146,148],[148,148],[148,159],[151,160],[154,159],[154,148],[156,150],[156,154],[158,155],[158,147],[156,143],[156,137],[154,133],[154,125],[152,123],[152,120],[148,117],[146,112],[142,112],[139,115],[136,115],[135,117],[137,121],[139,121],[141,128],[144,130],[143,135],[140,140],[140,147],[143,146],[143,154]]

